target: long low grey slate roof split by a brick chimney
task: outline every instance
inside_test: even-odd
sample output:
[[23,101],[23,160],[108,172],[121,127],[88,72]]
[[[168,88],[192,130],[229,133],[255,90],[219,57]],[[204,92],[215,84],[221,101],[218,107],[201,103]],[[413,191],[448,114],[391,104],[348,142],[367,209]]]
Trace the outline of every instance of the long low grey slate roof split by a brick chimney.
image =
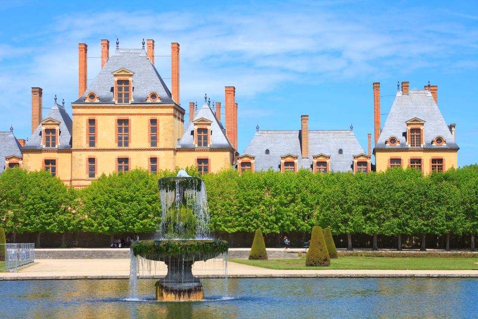
[[[280,170],[280,157],[291,154],[298,157],[298,168],[312,169],[312,157],[319,154],[330,156],[330,169],[352,171],[353,156],[365,153],[353,130],[309,131],[309,157],[302,158],[300,131],[259,131],[257,130],[244,154],[254,156],[257,171]],[[343,154],[339,154],[342,149]],[[269,150],[269,154],[265,154]]]

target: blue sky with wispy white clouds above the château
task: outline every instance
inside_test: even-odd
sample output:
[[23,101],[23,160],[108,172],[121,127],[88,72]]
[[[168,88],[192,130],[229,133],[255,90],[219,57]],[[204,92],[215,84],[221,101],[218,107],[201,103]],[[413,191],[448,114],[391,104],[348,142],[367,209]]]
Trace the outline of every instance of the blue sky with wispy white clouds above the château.
[[[57,94],[71,114],[78,43],[88,44],[93,79],[101,39],[140,48],[144,37],[155,40],[155,55],[180,43],[186,110],[204,93],[224,105],[224,86],[236,86],[240,153],[257,124],[297,130],[302,114],[312,130],[353,124],[366,150],[372,83],[386,114],[397,81],[419,89],[430,80],[445,121],[457,123],[459,165],[478,161],[477,1],[1,2],[0,130],[13,125],[17,138],[30,136],[32,86],[43,88],[44,108]],[[170,58],[155,62],[170,78]]]

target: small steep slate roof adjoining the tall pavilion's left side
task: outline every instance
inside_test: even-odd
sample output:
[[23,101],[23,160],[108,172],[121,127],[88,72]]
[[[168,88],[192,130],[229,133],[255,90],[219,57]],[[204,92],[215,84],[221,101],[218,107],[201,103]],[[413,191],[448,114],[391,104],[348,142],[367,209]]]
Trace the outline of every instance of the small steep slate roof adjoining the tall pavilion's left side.
[[[66,113],[65,107],[59,105],[56,102],[53,104],[50,111],[45,118],[52,118],[60,122],[60,146],[56,149],[71,149],[71,132],[73,122]],[[25,143],[23,150],[39,150],[41,149],[41,124],[36,128],[35,132],[31,135],[28,141]]]

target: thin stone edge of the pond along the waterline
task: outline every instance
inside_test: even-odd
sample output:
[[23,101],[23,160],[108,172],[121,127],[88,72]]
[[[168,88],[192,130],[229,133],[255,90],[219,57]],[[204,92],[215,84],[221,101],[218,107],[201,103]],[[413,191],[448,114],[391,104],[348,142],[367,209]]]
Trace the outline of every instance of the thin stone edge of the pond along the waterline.
[[[143,279],[160,279],[164,276],[140,277]],[[224,278],[223,275],[198,275],[201,279]],[[230,275],[228,278],[478,278],[476,274],[257,274],[257,275]],[[75,280],[75,279],[129,279],[128,275],[114,276],[9,276],[2,277],[1,281],[10,280]]]

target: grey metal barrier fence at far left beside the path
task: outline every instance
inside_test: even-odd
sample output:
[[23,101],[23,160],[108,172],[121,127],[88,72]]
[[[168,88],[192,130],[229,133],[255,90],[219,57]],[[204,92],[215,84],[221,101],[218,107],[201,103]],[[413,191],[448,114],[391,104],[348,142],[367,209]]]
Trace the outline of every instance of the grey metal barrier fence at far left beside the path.
[[34,259],[35,244],[0,245],[0,270],[16,272],[18,268],[32,264]]

